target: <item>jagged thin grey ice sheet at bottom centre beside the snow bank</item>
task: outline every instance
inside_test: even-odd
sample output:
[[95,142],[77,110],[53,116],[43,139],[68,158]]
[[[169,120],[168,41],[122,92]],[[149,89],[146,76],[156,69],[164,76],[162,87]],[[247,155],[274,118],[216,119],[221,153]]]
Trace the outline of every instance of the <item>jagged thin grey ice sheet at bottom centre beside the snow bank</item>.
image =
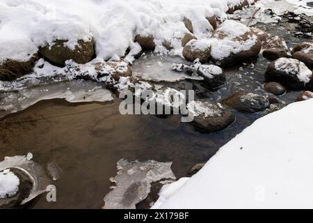
[[[129,162],[119,160],[118,175],[111,178],[114,189],[104,197],[104,209],[135,209],[136,204],[145,200],[151,184],[161,180],[175,180],[170,166],[172,162]],[[166,182],[166,181],[165,181]]]

